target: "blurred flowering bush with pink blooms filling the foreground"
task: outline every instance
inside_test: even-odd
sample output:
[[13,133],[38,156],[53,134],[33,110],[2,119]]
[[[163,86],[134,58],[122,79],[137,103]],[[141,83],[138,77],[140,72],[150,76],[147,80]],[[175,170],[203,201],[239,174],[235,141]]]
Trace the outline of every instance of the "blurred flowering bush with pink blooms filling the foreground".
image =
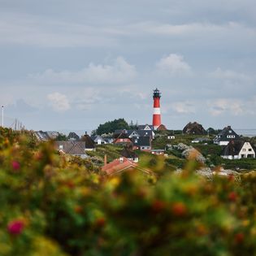
[[0,143],[2,256],[256,254],[256,172],[106,177],[50,143]]

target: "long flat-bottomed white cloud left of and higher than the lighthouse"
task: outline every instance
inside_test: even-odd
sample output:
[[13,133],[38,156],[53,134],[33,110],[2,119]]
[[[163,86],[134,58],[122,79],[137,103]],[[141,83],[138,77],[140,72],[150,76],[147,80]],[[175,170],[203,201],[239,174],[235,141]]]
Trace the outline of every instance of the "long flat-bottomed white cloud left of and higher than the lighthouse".
[[136,68],[123,57],[116,58],[111,64],[89,63],[79,71],[54,72],[48,69],[45,72],[31,74],[29,78],[41,83],[115,83],[126,82],[137,76]]

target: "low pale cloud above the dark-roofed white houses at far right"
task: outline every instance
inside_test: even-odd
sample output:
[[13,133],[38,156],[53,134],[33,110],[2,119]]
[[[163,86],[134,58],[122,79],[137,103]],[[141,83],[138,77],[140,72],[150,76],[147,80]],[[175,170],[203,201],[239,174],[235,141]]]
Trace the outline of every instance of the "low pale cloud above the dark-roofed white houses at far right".
[[210,106],[210,114],[217,115],[242,115],[245,114],[245,106],[241,100],[218,98],[208,102]]

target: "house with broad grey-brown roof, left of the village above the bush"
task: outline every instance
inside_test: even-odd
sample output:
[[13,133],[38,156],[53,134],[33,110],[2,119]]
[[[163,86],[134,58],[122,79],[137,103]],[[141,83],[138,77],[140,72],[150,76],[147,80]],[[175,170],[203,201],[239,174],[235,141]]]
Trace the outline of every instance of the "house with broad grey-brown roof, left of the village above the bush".
[[88,158],[85,153],[85,141],[55,141],[55,149],[63,154]]

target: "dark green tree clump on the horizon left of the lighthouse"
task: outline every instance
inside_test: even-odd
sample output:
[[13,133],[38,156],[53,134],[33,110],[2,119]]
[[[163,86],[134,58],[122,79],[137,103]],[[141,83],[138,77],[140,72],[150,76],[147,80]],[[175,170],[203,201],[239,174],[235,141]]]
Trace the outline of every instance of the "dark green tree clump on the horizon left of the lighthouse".
[[102,135],[103,133],[115,132],[119,129],[128,129],[129,125],[124,120],[124,118],[115,119],[113,121],[108,121],[105,124],[100,124],[96,129],[96,134]]

